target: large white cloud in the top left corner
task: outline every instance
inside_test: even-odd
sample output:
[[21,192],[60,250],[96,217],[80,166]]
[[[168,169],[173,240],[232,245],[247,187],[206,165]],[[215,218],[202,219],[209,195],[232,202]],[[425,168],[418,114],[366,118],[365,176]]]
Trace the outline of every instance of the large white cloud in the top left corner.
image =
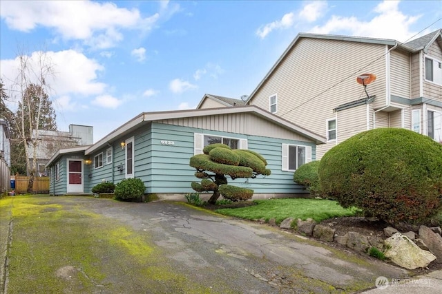
[[151,30],[160,14],[143,19],[139,10],[118,8],[110,2],[1,1],[0,17],[9,28],[21,32],[46,27],[63,39],[109,48],[122,40],[119,30]]

